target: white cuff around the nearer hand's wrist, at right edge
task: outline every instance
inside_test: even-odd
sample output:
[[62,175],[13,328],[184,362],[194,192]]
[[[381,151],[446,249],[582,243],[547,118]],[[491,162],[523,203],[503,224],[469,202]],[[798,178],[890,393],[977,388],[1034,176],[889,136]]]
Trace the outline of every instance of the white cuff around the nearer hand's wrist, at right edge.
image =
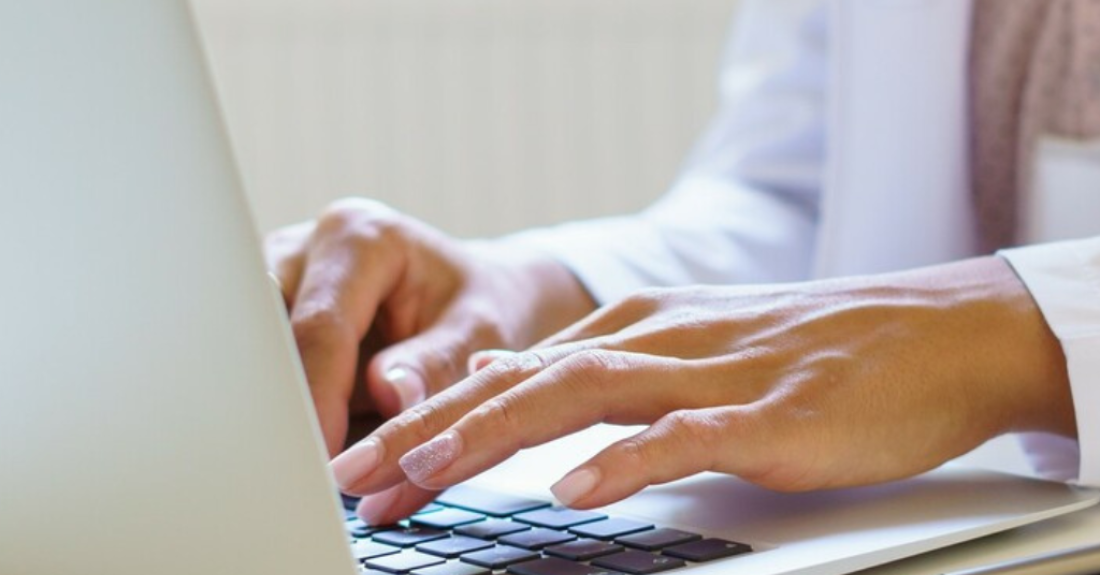
[[1000,252],[1062,343],[1077,442],[1028,434],[1024,446],[1052,478],[1100,487],[1100,237]]

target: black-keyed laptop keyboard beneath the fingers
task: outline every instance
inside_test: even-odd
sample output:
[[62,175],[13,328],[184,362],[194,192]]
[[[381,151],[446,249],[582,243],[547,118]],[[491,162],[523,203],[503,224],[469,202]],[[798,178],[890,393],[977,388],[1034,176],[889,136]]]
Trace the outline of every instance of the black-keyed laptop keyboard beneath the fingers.
[[372,527],[344,497],[351,550],[363,575],[645,575],[750,553],[596,511],[468,486],[440,495],[395,526]]

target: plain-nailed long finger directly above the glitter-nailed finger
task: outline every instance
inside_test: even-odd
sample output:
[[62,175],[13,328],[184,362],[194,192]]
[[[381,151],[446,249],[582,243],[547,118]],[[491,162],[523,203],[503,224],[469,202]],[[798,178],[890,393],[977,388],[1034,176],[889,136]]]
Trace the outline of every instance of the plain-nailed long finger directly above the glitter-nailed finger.
[[404,482],[405,472],[398,461],[405,453],[565,354],[568,350],[563,349],[516,354],[402,412],[332,461],[337,484],[345,494],[364,495]]

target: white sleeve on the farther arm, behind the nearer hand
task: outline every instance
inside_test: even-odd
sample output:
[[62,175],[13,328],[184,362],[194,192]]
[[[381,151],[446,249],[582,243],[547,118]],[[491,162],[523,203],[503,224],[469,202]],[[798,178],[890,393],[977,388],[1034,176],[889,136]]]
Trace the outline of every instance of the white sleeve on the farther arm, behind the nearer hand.
[[635,215],[510,236],[600,302],[648,286],[806,279],[825,145],[825,0],[745,0],[722,109],[672,189]]

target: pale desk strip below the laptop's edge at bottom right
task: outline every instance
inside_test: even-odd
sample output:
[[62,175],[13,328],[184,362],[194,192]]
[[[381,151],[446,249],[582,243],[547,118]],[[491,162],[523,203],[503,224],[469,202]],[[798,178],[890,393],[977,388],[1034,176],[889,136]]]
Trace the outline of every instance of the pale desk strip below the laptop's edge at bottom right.
[[1100,543],[1100,506],[862,571],[860,575],[938,575],[1097,543]]

